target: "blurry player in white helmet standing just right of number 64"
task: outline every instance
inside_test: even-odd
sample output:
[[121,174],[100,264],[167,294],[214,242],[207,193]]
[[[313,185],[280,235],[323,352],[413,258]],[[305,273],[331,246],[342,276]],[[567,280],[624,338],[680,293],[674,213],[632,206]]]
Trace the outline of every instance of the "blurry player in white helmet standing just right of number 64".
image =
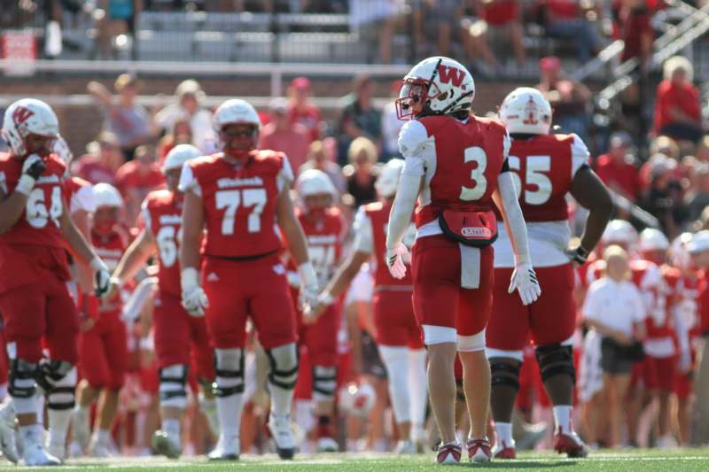
[[[93,190],[96,213],[91,242],[109,269],[113,269],[126,248],[125,236],[118,229],[123,199],[108,183],[97,183]],[[88,444],[88,452],[93,457],[113,455],[111,429],[128,363],[126,325],[121,309],[118,293],[102,300],[97,319],[90,329],[82,332],[79,341],[79,368],[83,378],[77,388],[78,401],[74,408],[74,442],[79,447],[73,449],[83,451]],[[90,437],[90,407],[97,400],[97,426]]]

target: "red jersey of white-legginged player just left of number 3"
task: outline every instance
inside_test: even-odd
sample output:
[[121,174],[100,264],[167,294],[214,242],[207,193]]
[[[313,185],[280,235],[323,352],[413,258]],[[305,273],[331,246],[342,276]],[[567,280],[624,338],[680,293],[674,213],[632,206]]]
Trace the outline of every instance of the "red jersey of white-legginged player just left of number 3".
[[[407,270],[402,279],[396,279],[386,267],[386,229],[389,226],[389,213],[392,211],[393,200],[375,202],[364,206],[364,214],[371,221],[372,242],[377,267],[374,272],[374,286],[408,286],[411,287],[411,271]],[[416,231],[408,231],[402,241],[409,249],[414,244]]]

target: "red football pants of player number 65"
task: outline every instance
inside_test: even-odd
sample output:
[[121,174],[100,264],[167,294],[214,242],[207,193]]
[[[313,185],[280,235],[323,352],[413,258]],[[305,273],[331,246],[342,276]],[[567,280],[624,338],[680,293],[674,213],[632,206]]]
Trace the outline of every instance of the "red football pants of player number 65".
[[507,293],[511,268],[495,269],[495,297],[487,323],[487,347],[522,351],[531,334],[536,345],[561,343],[573,336],[576,304],[573,300],[573,267],[535,267],[541,297],[524,306],[517,291]]

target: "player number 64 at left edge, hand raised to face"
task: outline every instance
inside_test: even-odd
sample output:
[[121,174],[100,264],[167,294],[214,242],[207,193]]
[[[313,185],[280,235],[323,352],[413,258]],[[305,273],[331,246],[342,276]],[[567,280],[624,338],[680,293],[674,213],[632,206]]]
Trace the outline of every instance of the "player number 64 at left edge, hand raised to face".
[[[56,465],[60,460],[46,451],[37,424],[35,391],[37,384],[43,388],[50,429],[66,439],[79,332],[74,300],[66,290],[67,244],[95,272],[98,295],[108,289],[110,273],[64,203],[66,166],[53,152],[58,120],[51,107],[34,98],[14,102],[5,111],[2,134],[10,145],[9,153],[0,154],[0,313],[11,362],[9,392],[25,464]],[[42,360],[43,337],[48,360]],[[12,434],[9,426],[0,422],[3,437]]]

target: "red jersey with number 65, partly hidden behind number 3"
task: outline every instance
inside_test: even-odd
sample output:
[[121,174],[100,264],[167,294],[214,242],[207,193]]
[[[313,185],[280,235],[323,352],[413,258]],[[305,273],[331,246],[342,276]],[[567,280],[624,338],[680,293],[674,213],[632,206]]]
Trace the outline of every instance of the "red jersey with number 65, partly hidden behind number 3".
[[525,221],[568,220],[566,194],[587,161],[586,145],[576,135],[513,139],[508,162]]

